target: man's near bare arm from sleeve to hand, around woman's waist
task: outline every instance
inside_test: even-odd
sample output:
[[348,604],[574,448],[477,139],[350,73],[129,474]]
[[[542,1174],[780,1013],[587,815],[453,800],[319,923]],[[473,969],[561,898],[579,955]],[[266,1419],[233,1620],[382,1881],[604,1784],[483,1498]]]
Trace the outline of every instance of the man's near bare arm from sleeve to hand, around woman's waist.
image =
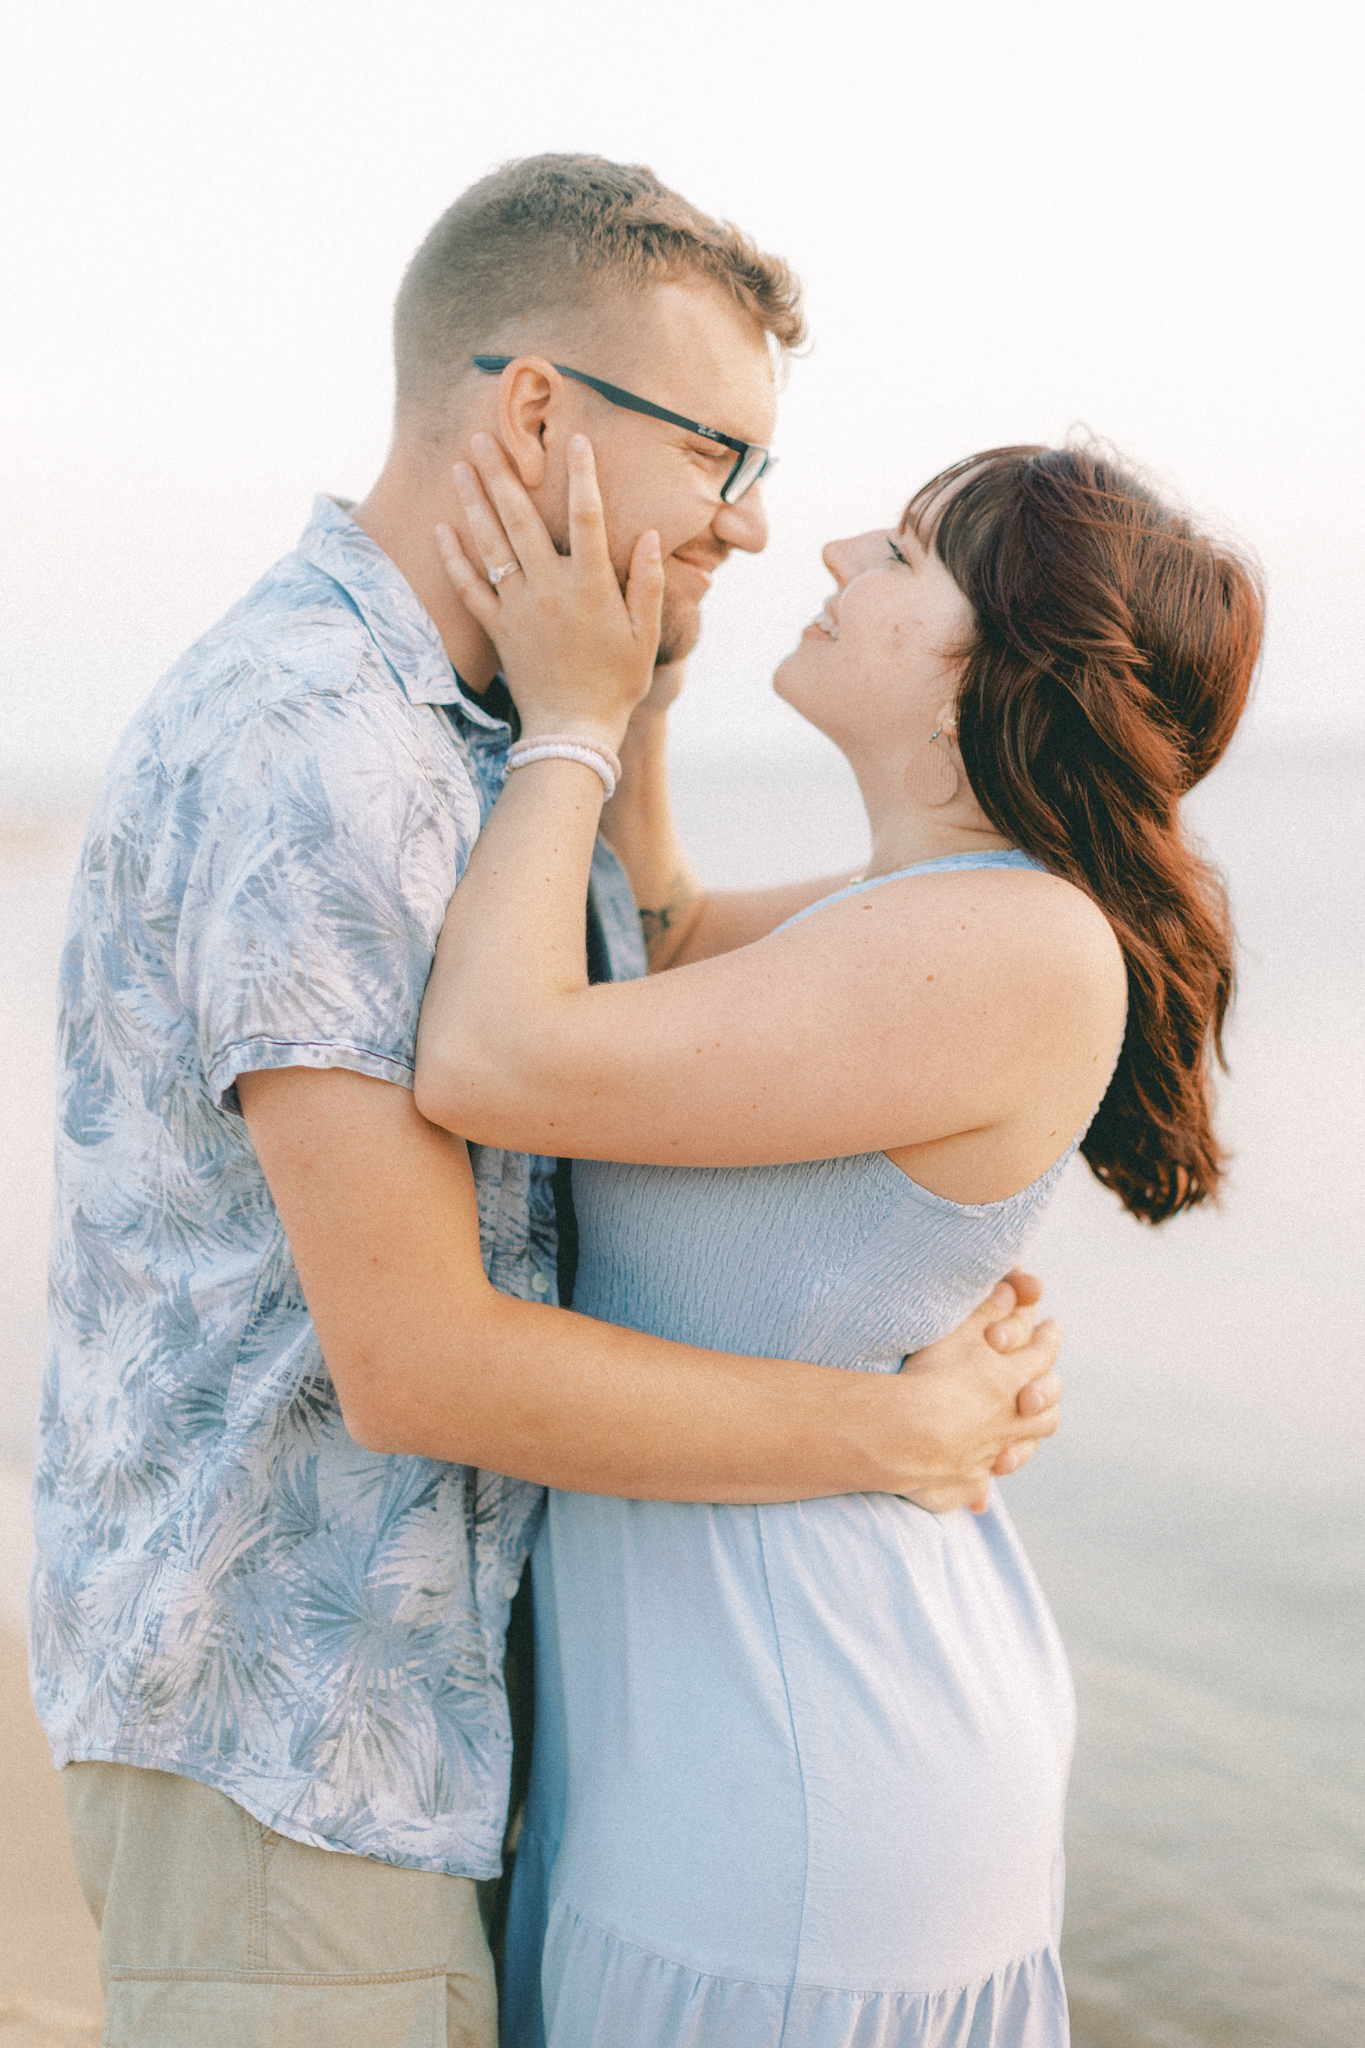
[[960,1505],[1005,1448],[1054,1427],[1015,1403],[1056,1348],[993,1352],[999,1307],[958,1352],[870,1374],[512,1300],[483,1274],[465,1147],[407,1090],[287,1067],[237,1092],[346,1425],[375,1450],[641,1499]]

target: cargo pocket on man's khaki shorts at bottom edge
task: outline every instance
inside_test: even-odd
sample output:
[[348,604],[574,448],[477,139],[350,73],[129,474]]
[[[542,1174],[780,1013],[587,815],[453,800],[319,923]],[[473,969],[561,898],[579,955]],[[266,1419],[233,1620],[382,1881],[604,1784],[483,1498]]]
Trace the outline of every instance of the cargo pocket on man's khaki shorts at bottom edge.
[[446,2048],[446,1972],[115,1966],[102,2048]]

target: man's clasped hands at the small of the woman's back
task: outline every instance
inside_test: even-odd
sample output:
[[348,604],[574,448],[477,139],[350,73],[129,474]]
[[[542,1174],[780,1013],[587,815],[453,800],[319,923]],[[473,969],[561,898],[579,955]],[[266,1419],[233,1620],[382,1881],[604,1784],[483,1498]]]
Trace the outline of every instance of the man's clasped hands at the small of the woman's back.
[[1036,1325],[1040,1298],[1033,1274],[1011,1272],[966,1323],[900,1368],[919,1382],[945,1464],[941,1483],[909,1495],[919,1507],[984,1513],[990,1477],[1017,1473],[1056,1432],[1062,1331],[1052,1321]]

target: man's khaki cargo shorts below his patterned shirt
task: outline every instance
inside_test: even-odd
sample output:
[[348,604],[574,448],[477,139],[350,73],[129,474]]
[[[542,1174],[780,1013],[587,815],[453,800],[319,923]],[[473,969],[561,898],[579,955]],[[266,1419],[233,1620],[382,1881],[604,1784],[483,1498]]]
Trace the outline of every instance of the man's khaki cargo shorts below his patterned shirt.
[[131,1763],[61,1772],[104,2048],[495,2048],[471,1878],[272,1833]]

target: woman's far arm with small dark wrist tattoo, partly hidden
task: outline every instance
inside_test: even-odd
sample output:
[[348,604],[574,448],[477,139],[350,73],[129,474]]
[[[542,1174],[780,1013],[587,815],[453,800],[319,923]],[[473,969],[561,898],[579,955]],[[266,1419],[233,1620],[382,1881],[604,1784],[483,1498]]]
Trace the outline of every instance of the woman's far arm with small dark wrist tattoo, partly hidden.
[[655,670],[620,743],[624,774],[600,827],[630,877],[651,975],[749,946],[849,881],[831,874],[774,889],[706,889],[677,838],[669,795],[667,713],[681,682],[681,666]]

